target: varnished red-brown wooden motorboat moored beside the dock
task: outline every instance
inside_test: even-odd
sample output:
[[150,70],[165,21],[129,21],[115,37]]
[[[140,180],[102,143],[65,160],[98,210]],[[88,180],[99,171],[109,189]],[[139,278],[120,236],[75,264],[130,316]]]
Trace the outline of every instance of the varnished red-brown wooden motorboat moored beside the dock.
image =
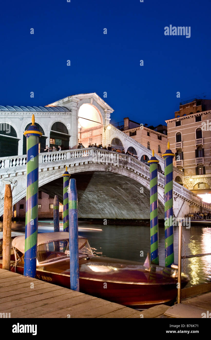
[[[70,288],[69,233],[39,233],[36,278]],[[64,244],[66,250],[64,251]],[[12,240],[11,270],[23,274],[25,234]],[[0,258],[0,267],[2,260]],[[167,304],[177,296],[177,270],[92,254],[79,236],[80,291],[131,308]],[[182,288],[189,277],[182,274]]]

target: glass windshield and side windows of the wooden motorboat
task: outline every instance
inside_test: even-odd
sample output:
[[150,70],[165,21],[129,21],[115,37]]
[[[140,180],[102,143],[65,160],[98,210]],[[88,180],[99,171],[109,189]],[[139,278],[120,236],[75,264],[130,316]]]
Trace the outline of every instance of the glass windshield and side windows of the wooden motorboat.
[[[79,238],[79,257],[93,255],[89,242],[85,238]],[[69,240],[59,240],[39,244],[37,248],[37,260],[39,265],[47,265],[55,261],[69,259]]]

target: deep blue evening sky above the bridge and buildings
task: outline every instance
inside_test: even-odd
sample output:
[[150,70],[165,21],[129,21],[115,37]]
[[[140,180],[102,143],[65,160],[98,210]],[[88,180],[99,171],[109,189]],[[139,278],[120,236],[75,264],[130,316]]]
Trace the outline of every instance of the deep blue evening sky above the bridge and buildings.
[[[4,0],[0,105],[107,91],[111,122],[164,123],[181,100],[211,99],[210,10],[210,0]],[[170,24],[191,37],[165,36]]]

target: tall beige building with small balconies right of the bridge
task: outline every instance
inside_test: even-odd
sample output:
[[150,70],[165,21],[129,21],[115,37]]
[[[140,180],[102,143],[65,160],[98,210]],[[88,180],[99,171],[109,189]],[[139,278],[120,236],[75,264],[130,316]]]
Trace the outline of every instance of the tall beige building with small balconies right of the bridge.
[[173,165],[184,171],[184,187],[200,195],[211,189],[210,110],[211,100],[194,99],[181,103],[175,117],[166,120]]

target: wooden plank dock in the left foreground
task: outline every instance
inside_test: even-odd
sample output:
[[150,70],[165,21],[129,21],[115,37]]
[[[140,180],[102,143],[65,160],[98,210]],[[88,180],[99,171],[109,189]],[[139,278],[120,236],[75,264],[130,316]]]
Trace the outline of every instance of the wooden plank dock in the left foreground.
[[0,313],[10,318],[140,318],[140,311],[0,269]]

